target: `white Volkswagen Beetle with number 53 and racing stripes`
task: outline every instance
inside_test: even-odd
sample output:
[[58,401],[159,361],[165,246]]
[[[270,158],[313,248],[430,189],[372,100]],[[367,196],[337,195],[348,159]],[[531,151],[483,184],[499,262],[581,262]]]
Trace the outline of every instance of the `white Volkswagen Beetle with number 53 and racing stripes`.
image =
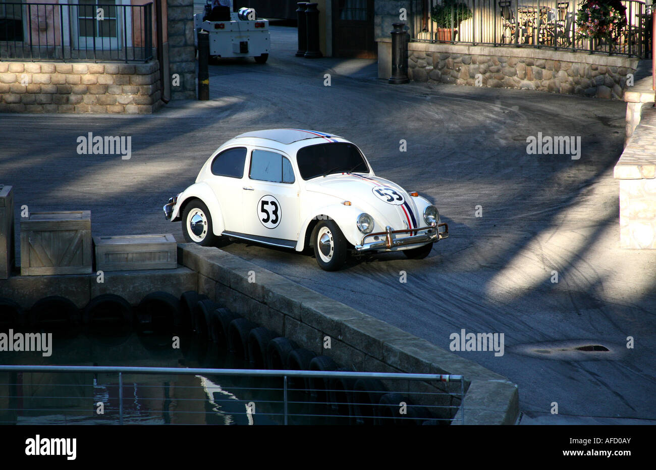
[[337,135],[268,129],[228,140],[164,213],[187,242],[228,237],[302,251],[337,270],[349,253],[403,251],[424,258],[449,236],[438,209],[377,177],[359,148]]

